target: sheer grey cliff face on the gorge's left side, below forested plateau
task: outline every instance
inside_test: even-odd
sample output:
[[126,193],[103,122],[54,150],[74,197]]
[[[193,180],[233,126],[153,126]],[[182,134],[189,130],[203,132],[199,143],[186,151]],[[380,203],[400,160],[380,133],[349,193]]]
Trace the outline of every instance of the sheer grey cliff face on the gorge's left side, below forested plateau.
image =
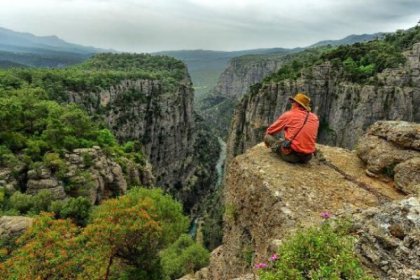
[[98,92],[70,92],[68,98],[103,117],[119,140],[140,141],[156,185],[171,191],[187,209],[211,190],[219,146],[193,112],[187,72],[173,92],[158,80],[125,80]]

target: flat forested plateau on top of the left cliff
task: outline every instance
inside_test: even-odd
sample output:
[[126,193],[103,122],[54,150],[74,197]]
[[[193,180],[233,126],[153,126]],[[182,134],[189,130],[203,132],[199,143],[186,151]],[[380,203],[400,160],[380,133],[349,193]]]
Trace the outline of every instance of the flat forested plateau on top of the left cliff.
[[67,101],[67,91],[98,92],[127,79],[160,80],[171,91],[185,76],[182,62],[147,54],[98,54],[64,69],[13,68],[0,71],[0,90],[42,88],[48,97]]

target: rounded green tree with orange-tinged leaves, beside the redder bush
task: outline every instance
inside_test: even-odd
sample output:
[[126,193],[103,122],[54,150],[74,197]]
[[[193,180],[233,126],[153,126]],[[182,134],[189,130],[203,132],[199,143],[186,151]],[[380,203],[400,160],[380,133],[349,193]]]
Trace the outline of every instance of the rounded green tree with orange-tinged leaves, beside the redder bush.
[[88,253],[84,274],[109,279],[135,270],[130,279],[160,279],[158,252],[188,227],[182,207],[159,189],[130,190],[105,201],[92,212],[83,232]]

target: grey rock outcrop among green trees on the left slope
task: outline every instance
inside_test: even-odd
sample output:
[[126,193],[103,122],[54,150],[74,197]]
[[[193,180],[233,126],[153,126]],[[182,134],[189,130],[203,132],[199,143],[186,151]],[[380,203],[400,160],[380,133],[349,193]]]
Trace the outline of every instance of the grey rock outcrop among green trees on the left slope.
[[[53,199],[82,195],[89,197],[92,204],[125,193],[128,184],[154,184],[149,165],[136,164],[125,158],[120,158],[120,161],[123,167],[99,147],[75,149],[64,155],[60,170],[55,165],[38,164],[21,174],[25,180],[20,183],[27,194],[48,190]],[[11,174],[10,170],[2,169],[0,182],[4,185],[0,184],[0,187],[11,192],[21,190],[16,179],[11,179],[14,178]]]

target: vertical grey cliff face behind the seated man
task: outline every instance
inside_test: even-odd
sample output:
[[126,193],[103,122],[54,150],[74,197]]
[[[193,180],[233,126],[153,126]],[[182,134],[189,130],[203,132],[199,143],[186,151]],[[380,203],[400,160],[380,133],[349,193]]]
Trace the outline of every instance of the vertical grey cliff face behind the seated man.
[[237,106],[228,147],[233,157],[261,141],[265,129],[288,106],[288,97],[307,92],[320,117],[319,142],[352,148],[377,120],[420,121],[420,44],[405,53],[407,62],[374,77],[374,85],[343,81],[330,63],[314,66],[296,81],[265,84]]

